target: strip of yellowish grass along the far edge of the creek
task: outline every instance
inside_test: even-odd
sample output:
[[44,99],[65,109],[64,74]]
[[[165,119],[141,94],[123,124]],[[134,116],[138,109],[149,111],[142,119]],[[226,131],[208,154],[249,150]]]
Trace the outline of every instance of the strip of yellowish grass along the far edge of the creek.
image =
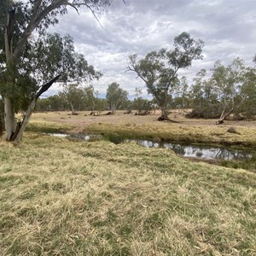
[[155,122],[151,124],[95,123],[84,128],[86,132],[98,132],[120,137],[144,138],[184,143],[215,143],[256,148],[256,127],[238,127],[236,133],[227,126],[179,125]]

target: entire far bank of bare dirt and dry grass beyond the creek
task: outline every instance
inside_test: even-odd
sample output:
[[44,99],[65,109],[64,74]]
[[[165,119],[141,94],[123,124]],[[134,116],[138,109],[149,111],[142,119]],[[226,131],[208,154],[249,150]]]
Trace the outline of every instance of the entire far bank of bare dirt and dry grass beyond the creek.
[[[177,123],[159,122],[157,115],[136,116],[119,112],[115,115],[91,116],[60,113],[35,113],[27,131],[102,133],[106,136],[140,138],[152,141],[213,143],[235,148],[256,148],[256,121],[225,121],[215,125],[214,119],[186,119],[174,112],[170,118]],[[230,133],[233,127],[236,133]]]

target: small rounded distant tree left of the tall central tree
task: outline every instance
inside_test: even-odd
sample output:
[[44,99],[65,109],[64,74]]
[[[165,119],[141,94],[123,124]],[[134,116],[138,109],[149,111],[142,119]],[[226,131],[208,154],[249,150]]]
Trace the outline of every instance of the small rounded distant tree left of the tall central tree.
[[120,88],[120,85],[116,82],[108,85],[106,99],[109,104],[111,113],[115,113],[117,108],[120,108],[128,98],[128,91]]

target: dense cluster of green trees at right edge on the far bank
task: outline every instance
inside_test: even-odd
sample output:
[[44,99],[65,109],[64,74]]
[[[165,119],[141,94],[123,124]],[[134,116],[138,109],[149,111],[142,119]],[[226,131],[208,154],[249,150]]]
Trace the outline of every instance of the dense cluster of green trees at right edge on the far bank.
[[227,67],[216,61],[207,78],[206,70],[197,73],[191,86],[192,115],[201,118],[226,118],[230,113],[252,118],[256,114],[256,70],[245,67],[237,58]]

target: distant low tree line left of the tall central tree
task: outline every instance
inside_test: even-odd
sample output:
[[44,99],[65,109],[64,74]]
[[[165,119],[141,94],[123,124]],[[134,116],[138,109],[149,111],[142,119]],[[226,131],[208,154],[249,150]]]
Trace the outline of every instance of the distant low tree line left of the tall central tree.
[[71,110],[72,114],[77,114],[76,111],[89,110],[91,114],[98,115],[102,110],[108,110],[113,114],[117,109],[122,109],[126,113],[135,110],[137,114],[143,115],[150,113],[154,108],[154,101],[143,99],[138,92],[133,101],[129,100],[128,92],[114,82],[108,85],[106,98],[100,98],[93,85],[83,88],[70,84],[57,95],[39,98],[36,110]]

